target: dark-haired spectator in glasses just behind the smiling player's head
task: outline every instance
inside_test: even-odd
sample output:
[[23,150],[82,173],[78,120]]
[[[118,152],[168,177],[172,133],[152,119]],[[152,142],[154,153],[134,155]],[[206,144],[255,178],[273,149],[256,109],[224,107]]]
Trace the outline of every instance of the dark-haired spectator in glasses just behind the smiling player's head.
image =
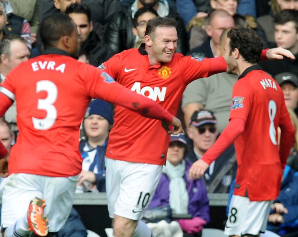
[[140,8],[133,18],[133,34],[135,36],[134,48],[140,47],[145,42],[145,31],[148,20],[158,16],[157,12],[152,8]]

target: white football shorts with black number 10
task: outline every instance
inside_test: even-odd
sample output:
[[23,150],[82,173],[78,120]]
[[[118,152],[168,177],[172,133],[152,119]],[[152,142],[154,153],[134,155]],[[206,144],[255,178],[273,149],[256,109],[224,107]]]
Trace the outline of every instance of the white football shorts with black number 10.
[[109,216],[140,220],[162,174],[162,165],[106,157],[106,195]]

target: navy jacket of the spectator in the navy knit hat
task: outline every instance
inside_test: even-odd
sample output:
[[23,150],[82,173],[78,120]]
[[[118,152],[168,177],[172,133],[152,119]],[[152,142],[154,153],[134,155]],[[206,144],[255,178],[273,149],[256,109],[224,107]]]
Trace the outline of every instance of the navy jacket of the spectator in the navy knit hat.
[[[105,154],[108,139],[102,146],[90,150],[86,149],[87,141],[81,140],[79,144],[79,151],[84,159],[90,158],[93,162],[90,164],[88,170],[95,173],[95,183],[99,192],[106,192],[106,167],[105,167]],[[96,151],[95,151],[96,150]]]

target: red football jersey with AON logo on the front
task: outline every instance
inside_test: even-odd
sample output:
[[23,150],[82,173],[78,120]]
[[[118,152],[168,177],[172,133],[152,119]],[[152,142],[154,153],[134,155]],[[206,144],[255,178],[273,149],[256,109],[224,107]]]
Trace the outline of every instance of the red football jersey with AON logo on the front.
[[[150,66],[147,52],[140,47],[116,54],[99,68],[118,83],[157,101],[175,115],[188,83],[196,78],[224,72],[227,65],[223,57],[199,60],[174,53],[171,62]],[[106,157],[130,162],[165,164],[169,136],[161,127],[160,121],[143,118],[117,105],[114,121]]]

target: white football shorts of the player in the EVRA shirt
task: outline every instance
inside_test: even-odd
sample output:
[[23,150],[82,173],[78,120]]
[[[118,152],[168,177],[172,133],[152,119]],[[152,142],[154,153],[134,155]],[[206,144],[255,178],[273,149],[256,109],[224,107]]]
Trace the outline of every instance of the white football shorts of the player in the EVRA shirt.
[[72,207],[77,176],[48,177],[15,173],[7,177],[2,195],[2,227],[13,225],[27,214],[34,197],[46,200],[44,215],[49,220],[49,232],[60,230]]

